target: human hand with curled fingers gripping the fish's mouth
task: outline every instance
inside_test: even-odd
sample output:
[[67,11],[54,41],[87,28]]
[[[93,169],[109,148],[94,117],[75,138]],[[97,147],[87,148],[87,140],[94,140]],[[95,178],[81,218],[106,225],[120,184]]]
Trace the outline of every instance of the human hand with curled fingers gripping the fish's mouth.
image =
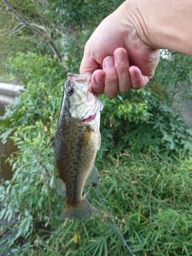
[[93,74],[92,90],[113,98],[141,89],[154,76],[160,51],[143,41],[125,6],[110,14],[86,42],[80,74]]

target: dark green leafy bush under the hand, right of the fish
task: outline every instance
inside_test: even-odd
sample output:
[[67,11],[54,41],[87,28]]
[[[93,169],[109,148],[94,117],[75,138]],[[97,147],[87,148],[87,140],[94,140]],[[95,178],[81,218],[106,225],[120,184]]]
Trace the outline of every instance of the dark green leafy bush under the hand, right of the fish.
[[146,86],[142,90],[131,90],[129,94],[119,94],[117,98],[102,97],[105,101],[102,111],[102,150],[118,154],[122,144],[123,149],[142,152],[147,152],[150,146],[158,151],[192,150],[191,130],[179,114],[167,105],[168,94],[163,92],[159,96],[159,93],[160,90],[156,94]]

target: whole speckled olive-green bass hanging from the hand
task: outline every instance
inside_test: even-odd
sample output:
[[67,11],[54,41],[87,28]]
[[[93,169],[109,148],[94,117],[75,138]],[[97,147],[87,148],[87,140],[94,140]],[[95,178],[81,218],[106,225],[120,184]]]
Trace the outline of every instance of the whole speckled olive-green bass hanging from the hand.
[[55,134],[54,178],[58,194],[66,196],[59,219],[88,220],[90,204],[84,186],[101,181],[94,160],[101,145],[100,111],[103,103],[92,93],[91,76],[68,74]]

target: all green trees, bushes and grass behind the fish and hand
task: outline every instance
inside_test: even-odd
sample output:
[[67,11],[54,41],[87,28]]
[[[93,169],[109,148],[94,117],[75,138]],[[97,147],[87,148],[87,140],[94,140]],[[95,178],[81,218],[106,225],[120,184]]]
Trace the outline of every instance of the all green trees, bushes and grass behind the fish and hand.
[[[11,136],[18,151],[9,159],[13,178],[0,186],[0,218],[18,221],[9,226],[17,234],[8,242],[9,252],[2,240],[0,252],[127,255],[94,190],[87,192],[102,214],[93,206],[87,222],[58,221],[65,199],[56,194],[53,178],[66,73],[78,72],[86,39],[122,1],[10,1],[18,16],[8,14],[3,2],[2,75],[14,75],[25,91],[6,107],[1,122],[2,141]],[[137,256],[192,254],[192,132],[173,108],[186,95],[191,100],[186,91],[192,58],[170,51],[166,56],[164,51],[144,89],[113,99],[100,96],[105,108],[97,190]]]

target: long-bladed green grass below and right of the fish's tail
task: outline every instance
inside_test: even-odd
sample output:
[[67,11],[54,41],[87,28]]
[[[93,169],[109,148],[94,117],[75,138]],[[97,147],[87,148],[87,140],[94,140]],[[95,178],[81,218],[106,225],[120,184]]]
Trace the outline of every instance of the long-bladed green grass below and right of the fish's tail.
[[[191,154],[126,151],[116,158],[109,156],[98,167],[102,169],[98,194],[135,255],[192,255]],[[89,194],[108,219],[94,190]],[[14,248],[15,254],[129,255],[95,208],[87,222],[59,222],[55,209],[52,214],[50,230],[38,230],[30,246]]]

